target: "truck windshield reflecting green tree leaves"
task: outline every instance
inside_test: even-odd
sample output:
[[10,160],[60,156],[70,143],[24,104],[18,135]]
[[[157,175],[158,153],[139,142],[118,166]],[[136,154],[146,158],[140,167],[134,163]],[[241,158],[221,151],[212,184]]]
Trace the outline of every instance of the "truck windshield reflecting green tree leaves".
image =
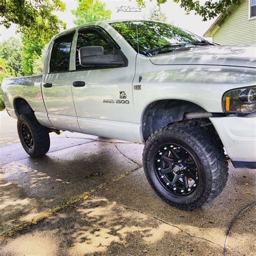
[[[136,52],[144,56],[172,52],[180,48],[195,47],[198,45],[189,43],[204,41],[203,38],[191,32],[167,23],[125,21],[113,22],[110,25],[125,38]],[[138,29],[138,44],[136,29]]]

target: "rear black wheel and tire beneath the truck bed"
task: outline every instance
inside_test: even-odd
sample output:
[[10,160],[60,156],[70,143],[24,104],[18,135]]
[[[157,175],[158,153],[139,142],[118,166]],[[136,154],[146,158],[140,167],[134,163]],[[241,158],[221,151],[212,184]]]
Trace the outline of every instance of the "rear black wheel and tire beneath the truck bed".
[[18,117],[17,129],[23,149],[30,156],[42,156],[49,151],[49,132],[38,123],[34,114],[21,114]]

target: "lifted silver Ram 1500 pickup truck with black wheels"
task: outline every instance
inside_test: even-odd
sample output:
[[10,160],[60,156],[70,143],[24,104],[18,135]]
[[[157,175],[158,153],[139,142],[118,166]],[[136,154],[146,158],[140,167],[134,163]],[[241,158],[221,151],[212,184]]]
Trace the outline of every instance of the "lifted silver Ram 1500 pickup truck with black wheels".
[[153,21],[92,22],[52,38],[42,76],[8,78],[6,110],[30,156],[59,130],[144,143],[167,203],[193,210],[234,167],[256,167],[256,56]]

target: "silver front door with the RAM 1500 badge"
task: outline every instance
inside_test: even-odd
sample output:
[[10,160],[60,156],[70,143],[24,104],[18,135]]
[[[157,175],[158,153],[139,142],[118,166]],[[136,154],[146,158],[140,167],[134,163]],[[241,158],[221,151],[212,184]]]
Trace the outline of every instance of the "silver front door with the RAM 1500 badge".
[[129,126],[133,118],[132,80],[136,52],[133,59],[129,58],[130,63],[124,56],[127,63],[122,67],[83,67],[79,64],[78,51],[84,46],[103,46],[104,54],[122,51],[99,27],[90,26],[78,31],[76,71],[71,74],[71,83],[80,129],[88,134],[129,140],[124,133],[133,136],[126,125]]

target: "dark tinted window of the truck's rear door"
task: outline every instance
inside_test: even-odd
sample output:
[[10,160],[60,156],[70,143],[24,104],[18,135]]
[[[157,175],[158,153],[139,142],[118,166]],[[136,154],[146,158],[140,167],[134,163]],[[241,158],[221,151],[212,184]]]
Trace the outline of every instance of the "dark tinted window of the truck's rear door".
[[73,33],[59,37],[55,40],[50,59],[50,72],[63,72],[69,70],[70,48]]

